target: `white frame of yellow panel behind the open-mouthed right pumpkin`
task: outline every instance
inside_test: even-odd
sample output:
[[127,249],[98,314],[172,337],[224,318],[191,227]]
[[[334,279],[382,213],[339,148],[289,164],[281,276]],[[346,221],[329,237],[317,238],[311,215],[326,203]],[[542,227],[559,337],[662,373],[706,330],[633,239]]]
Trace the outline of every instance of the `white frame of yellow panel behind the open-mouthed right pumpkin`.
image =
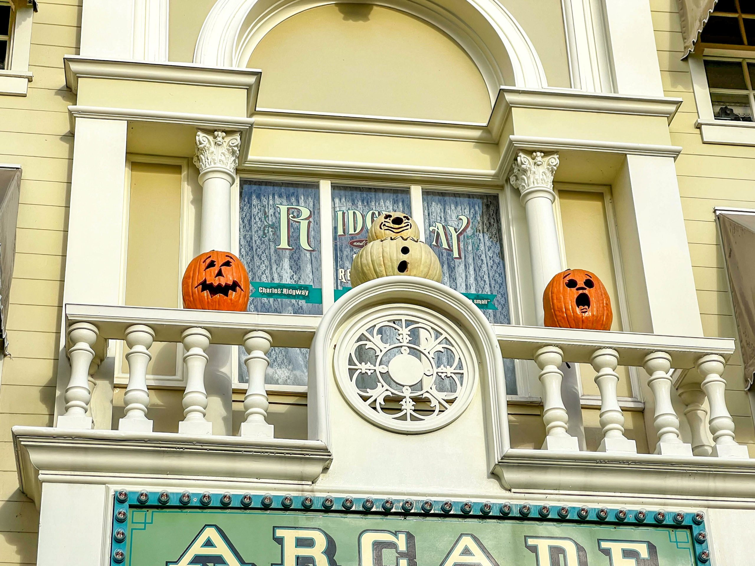
[[[563,234],[563,224],[561,217],[561,201],[559,191],[574,192],[598,192],[603,195],[603,204],[606,207],[606,223],[609,228],[609,244],[611,246],[611,256],[613,259],[614,275],[616,278],[616,298],[618,300],[618,315],[621,317],[621,328],[624,332],[630,331],[631,321],[629,314],[629,301],[627,300],[627,288],[624,280],[624,263],[621,260],[621,248],[618,241],[618,224],[616,223],[616,213],[613,205],[611,187],[607,185],[582,185],[575,183],[553,183],[553,192],[556,193],[556,201],[553,202],[554,213],[556,214],[556,232],[559,236],[559,247],[561,248],[561,263],[566,262],[566,246]],[[616,306],[614,306],[615,308]],[[618,403],[621,408],[628,410],[641,411],[645,408],[643,402],[643,389],[639,380],[639,369],[629,367],[631,397],[619,397]],[[582,392],[582,380],[579,371],[579,365],[576,366],[580,392],[580,401],[583,408],[600,407],[600,395],[585,395]]]

